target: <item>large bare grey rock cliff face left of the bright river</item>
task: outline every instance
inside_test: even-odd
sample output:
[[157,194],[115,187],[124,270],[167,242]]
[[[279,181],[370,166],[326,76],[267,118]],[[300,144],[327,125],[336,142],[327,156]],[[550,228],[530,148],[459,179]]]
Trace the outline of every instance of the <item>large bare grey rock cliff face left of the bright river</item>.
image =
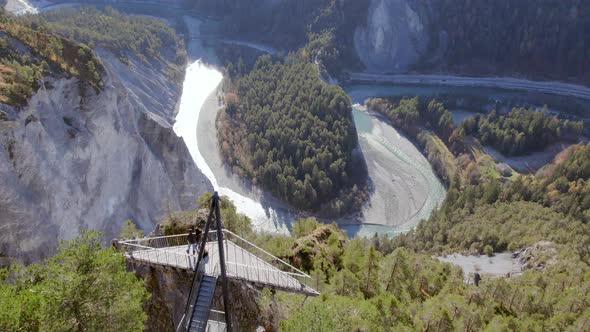
[[106,242],[126,219],[151,230],[211,189],[172,130],[180,84],[100,53],[102,91],[47,78],[28,106],[0,105],[0,257],[47,256],[82,227]]

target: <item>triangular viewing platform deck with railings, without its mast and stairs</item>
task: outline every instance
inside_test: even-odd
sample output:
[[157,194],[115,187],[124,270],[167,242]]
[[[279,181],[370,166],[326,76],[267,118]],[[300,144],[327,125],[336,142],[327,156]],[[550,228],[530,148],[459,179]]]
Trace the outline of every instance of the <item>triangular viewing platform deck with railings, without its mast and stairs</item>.
[[[224,254],[227,274],[269,287],[300,290],[317,294],[311,287],[311,277],[286,261],[272,255],[239,235],[223,229]],[[188,234],[159,236],[117,241],[117,247],[129,258],[159,265],[195,270],[197,257],[186,253]],[[210,231],[207,236],[209,257],[217,264],[207,261],[201,266],[208,275],[220,274],[217,233]]]

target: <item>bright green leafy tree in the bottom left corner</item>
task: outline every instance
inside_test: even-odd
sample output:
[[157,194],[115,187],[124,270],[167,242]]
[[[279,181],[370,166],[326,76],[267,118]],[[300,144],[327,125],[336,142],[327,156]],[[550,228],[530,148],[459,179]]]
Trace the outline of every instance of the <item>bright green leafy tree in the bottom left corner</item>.
[[2,331],[143,331],[143,281],[83,231],[46,261],[0,270]]

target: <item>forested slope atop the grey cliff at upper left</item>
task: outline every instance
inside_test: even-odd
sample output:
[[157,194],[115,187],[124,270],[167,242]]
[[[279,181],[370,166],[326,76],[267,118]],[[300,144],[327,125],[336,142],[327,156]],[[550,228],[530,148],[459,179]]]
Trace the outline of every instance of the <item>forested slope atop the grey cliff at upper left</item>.
[[[107,7],[60,8],[41,15],[12,16],[0,9],[0,102],[23,106],[46,75],[78,76],[102,87],[100,61],[92,49],[111,50],[123,62],[172,59],[166,73],[180,80],[184,42],[164,21],[119,13]],[[26,45],[25,49],[20,43]]]

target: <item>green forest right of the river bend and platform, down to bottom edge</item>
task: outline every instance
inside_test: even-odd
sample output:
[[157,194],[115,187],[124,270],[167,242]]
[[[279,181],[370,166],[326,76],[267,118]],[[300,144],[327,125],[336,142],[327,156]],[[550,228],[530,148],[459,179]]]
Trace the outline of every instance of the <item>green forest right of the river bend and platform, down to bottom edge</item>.
[[[581,122],[514,108],[455,126],[435,99],[376,98],[366,105],[420,144],[449,185],[447,199],[429,220],[393,240],[346,240],[337,226],[313,219],[299,220],[291,237],[259,239],[261,246],[309,271],[322,291],[302,310],[283,295],[287,318],[281,330],[590,327],[590,146],[572,145],[536,174],[511,176],[499,174],[481,151],[489,144],[522,154],[556,140],[573,142]],[[484,277],[479,287],[466,284],[458,268],[430,256],[525,248],[522,275]]]

